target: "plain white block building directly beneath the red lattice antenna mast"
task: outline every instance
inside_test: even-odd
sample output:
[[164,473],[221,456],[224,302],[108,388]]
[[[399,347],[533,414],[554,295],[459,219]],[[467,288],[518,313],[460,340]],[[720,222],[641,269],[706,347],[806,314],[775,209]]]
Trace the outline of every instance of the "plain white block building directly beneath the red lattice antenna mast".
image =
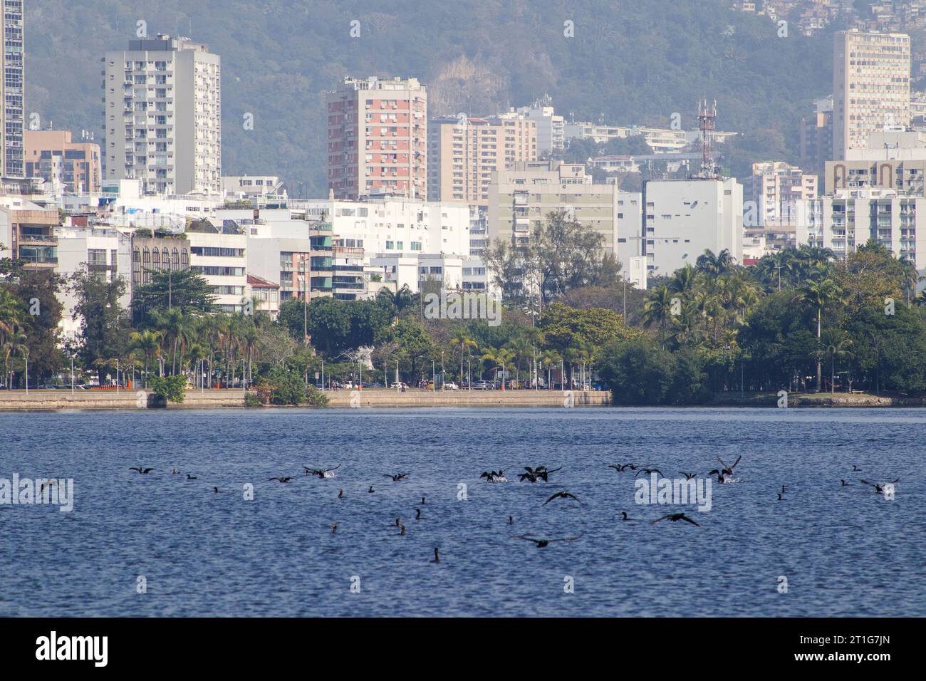
[[743,185],[734,179],[644,183],[643,253],[649,274],[694,265],[706,250],[743,261]]

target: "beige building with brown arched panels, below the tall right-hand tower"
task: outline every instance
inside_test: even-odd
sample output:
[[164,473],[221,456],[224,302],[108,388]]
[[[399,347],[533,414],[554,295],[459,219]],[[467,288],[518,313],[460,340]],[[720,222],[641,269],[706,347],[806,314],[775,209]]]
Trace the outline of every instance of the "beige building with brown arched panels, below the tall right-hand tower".
[[926,132],[872,132],[864,148],[850,149],[845,160],[827,161],[827,195],[842,189],[877,187],[898,194],[923,195]]

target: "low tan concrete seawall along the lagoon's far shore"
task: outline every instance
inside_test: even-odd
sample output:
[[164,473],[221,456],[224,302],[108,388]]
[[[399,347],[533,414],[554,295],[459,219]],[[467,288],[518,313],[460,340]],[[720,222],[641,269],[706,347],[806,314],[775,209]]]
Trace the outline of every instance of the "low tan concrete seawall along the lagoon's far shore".
[[[409,390],[396,393],[393,390],[368,389],[362,392],[336,390],[326,393],[329,407],[346,408],[410,408],[410,407],[564,407],[569,400],[566,393],[558,390],[489,390],[469,392],[428,393]],[[610,404],[608,392],[572,393],[574,407],[605,407]],[[170,404],[168,409],[217,409],[244,407],[241,390],[189,390],[181,404]],[[135,410],[156,409],[153,396],[144,390],[130,391],[86,391],[73,394],[69,390],[39,390],[24,392],[0,392],[0,412],[3,411],[57,411],[57,410]]]

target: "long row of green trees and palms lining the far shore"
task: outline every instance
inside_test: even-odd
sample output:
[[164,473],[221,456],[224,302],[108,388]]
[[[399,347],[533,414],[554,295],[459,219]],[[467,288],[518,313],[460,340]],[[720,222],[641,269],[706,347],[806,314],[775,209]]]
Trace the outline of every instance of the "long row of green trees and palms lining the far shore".
[[[19,384],[28,357],[33,385],[74,358],[101,382],[119,367],[143,384],[187,376],[203,387],[309,386],[321,375],[356,380],[361,372],[366,381],[415,384],[440,370],[448,381],[600,379],[622,403],[780,389],[926,392],[919,275],[883,246],[861,246],[843,260],[803,246],[752,267],[708,251],[645,292],[622,279],[601,246],[562,212],[519,247],[490,246],[505,296],[498,326],[426,319],[424,293],[407,288],[309,306],[290,299],[276,320],[257,305],[228,314],[194,271],[151,272],[125,309],[120,280],[82,271],[65,282],[0,263],[4,381]],[[56,294],[65,288],[83,320],[75,342],[58,336]]]

